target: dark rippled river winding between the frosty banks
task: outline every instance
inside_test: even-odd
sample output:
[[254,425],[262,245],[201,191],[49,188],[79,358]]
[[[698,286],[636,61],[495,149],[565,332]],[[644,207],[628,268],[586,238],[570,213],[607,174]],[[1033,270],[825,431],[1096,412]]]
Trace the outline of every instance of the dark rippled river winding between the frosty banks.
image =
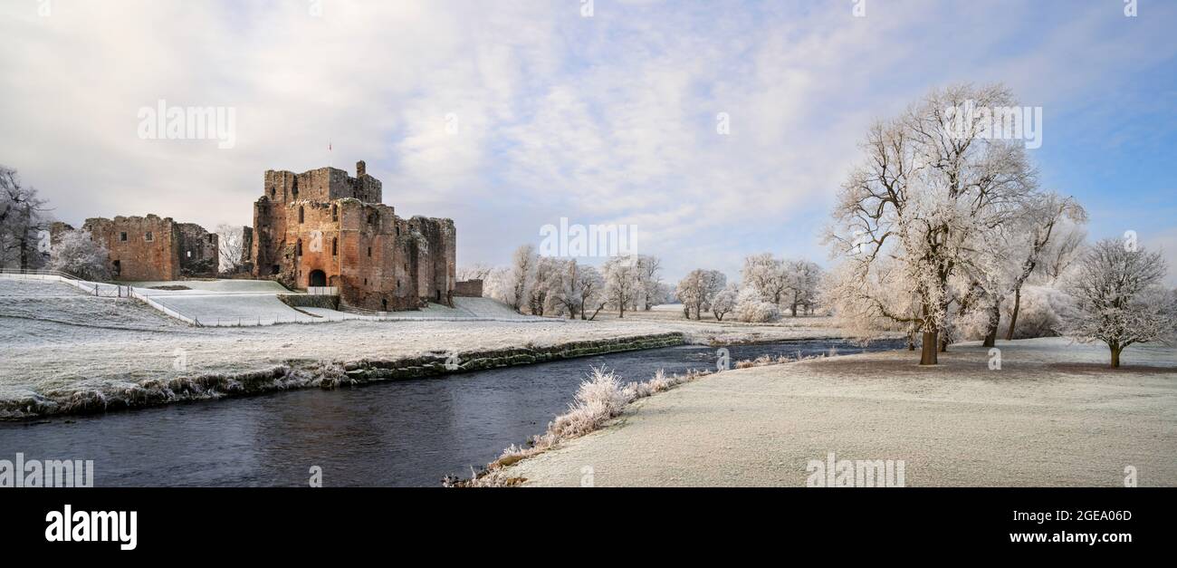
[[[899,349],[844,341],[732,345],[731,361]],[[714,369],[716,348],[677,346],[332,391],[179,403],[107,415],[0,423],[0,460],[93,460],[94,486],[439,486],[470,477],[563,414],[590,366],[627,381],[658,369]]]

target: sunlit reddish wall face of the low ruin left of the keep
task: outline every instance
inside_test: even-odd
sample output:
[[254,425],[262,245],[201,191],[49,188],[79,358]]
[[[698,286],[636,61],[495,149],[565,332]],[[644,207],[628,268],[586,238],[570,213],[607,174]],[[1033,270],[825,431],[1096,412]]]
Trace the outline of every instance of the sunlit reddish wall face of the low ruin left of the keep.
[[95,217],[82,229],[109,251],[117,280],[174,280],[180,275],[179,229],[171,217]]

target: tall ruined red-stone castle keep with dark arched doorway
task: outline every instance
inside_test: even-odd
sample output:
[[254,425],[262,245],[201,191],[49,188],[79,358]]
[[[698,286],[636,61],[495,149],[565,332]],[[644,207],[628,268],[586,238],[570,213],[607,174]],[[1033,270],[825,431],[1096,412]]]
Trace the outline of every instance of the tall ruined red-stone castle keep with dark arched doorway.
[[381,191],[363,161],[354,178],[334,167],[267,171],[253,204],[253,275],[335,286],[344,303],[371,310],[452,304],[453,220],[397,217]]

